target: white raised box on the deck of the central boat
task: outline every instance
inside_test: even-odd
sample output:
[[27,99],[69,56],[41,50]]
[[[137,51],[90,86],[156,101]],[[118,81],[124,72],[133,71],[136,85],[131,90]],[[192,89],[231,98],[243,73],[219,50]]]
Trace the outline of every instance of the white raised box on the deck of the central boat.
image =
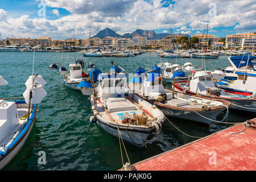
[[125,101],[115,101],[115,102],[110,102],[108,100],[105,102],[105,104],[109,113],[125,111],[125,110],[136,110],[135,105],[126,99]]

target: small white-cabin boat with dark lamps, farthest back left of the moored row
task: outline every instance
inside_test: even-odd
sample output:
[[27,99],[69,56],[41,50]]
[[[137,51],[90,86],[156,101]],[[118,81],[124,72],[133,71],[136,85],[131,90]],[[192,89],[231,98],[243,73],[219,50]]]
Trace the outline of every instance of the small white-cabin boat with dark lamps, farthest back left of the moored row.
[[[57,67],[56,64],[60,64],[61,67]],[[49,66],[51,69],[57,69],[60,75],[63,75],[64,83],[69,88],[74,90],[80,90],[82,94],[90,96],[93,94],[92,82],[96,82],[97,78],[92,78],[92,68],[96,67],[92,63],[88,63],[88,74],[84,73],[84,61],[76,60],[75,64],[69,64],[69,72],[67,75],[67,68],[63,67],[61,63],[54,63]],[[100,69],[93,69],[93,72],[101,72]]]

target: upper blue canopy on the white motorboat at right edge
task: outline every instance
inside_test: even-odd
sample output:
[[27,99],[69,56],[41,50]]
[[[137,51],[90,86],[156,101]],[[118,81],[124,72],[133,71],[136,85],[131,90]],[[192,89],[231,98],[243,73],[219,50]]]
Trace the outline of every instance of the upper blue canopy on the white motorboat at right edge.
[[[248,56],[249,56],[249,60],[248,60]],[[248,67],[256,71],[256,56],[250,56],[250,55],[233,56],[233,57],[229,57],[229,61],[234,67],[234,69],[246,67],[247,61],[248,61]]]

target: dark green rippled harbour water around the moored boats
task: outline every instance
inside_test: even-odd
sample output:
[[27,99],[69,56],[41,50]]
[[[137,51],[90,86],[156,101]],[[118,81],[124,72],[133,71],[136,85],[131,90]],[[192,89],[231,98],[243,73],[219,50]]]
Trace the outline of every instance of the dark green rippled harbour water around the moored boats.
[[[26,90],[25,82],[32,74],[32,59],[32,52],[0,53],[0,75],[9,82],[1,86],[0,98],[22,97]],[[38,106],[35,123],[26,143],[4,170],[116,170],[122,167],[119,139],[106,133],[97,123],[89,121],[92,113],[88,96],[69,89],[64,84],[63,76],[48,68],[52,63],[61,63],[68,69],[68,65],[75,63],[75,59],[84,60],[85,67],[88,61],[92,62],[102,72],[106,69],[109,71],[111,61],[117,64],[117,57],[84,57],[81,52],[36,52],[34,72],[46,80],[44,89],[47,96]],[[201,59],[160,58],[155,52],[151,53],[151,57],[148,52],[135,57],[118,57],[118,65],[125,68],[126,73],[133,73],[138,66],[148,68],[149,65],[152,68],[155,64],[167,61],[181,65],[189,61],[201,67]],[[207,70],[230,65],[228,56],[205,59],[205,64]],[[217,119],[222,119],[224,114]],[[231,110],[228,121],[243,122],[254,117],[254,114]],[[187,120],[169,119],[181,131],[196,137],[205,137],[230,126],[220,123],[207,126]],[[136,163],[195,139],[181,134],[166,121],[156,142],[148,144],[146,148],[127,142],[125,146],[130,162]],[[38,163],[40,151],[46,153],[46,164]],[[126,157],[124,161],[128,162]]]

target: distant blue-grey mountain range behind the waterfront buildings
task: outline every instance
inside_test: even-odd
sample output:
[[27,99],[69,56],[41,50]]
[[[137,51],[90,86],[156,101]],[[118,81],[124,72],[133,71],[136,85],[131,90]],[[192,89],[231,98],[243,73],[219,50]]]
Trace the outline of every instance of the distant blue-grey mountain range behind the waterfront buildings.
[[[104,30],[101,30],[98,32],[98,34],[94,35],[92,38],[105,38],[106,36],[112,36],[113,38],[133,38],[134,36],[146,36],[147,39],[163,39],[166,36],[170,35],[168,33],[162,33],[162,34],[156,34],[154,30],[148,31],[148,30],[141,30],[137,29],[136,31],[132,32],[131,34],[126,33],[123,35],[116,34],[115,31],[111,30],[110,28],[105,28]],[[180,34],[185,35],[190,38],[191,36],[188,34]]]

